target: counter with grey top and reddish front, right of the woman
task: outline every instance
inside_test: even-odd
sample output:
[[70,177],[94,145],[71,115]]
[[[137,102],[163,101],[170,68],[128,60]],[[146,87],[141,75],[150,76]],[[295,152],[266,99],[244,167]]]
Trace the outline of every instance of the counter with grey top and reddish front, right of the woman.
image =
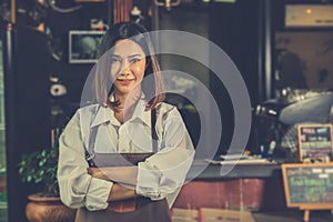
[[[195,161],[189,178],[205,164]],[[209,164],[198,178],[186,183],[174,208],[281,210],[285,209],[280,164],[236,164],[225,175],[222,165]]]

